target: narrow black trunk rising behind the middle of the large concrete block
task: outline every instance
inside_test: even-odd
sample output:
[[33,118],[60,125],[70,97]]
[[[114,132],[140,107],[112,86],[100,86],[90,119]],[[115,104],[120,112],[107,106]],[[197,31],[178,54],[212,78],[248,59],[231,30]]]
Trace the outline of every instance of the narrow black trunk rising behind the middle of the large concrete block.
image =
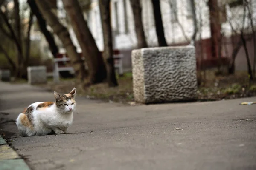
[[164,37],[163,21],[160,8],[160,0],[151,0],[154,11],[155,28],[157,32],[158,45],[160,47],[166,47],[166,39]]

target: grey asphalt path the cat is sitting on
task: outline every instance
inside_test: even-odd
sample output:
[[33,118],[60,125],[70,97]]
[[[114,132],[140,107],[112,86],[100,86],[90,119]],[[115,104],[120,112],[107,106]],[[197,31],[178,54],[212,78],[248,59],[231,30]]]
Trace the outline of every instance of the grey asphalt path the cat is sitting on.
[[256,105],[239,105],[255,97],[140,106],[78,97],[69,134],[20,137],[12,120],[52,99],[41,88],[0,83],[1,132],[34,170],[256,169]]

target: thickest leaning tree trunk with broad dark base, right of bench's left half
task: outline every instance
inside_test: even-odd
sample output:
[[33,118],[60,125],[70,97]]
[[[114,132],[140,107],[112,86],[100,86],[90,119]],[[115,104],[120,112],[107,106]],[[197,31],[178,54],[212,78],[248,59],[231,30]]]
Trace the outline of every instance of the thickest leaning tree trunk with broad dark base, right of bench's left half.
[[106,77],[106,67],[93,35],[84,20],[83,12],[77,0],[62,0],[70,18],[70,23],[76,34],[82,53],[89,68],[90,83],[103,82]]

